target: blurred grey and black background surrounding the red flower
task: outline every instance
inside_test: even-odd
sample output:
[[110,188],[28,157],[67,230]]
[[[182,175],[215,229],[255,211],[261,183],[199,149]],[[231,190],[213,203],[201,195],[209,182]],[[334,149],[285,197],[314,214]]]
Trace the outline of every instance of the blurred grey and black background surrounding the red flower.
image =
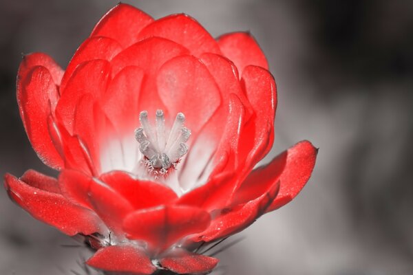
[[[250,30],[278,87],[268,162],[299,140],[319,147],[308,185],[233,237],[214,274],[413,274],[413,1],[125,1],[155,18],[185,12],[213,36]],[[15,100],[22,53],[66,67],[117,1],[0,0],[0,174],[50,173]],[[84,274],[89,256],[0,190],[0,274]]]

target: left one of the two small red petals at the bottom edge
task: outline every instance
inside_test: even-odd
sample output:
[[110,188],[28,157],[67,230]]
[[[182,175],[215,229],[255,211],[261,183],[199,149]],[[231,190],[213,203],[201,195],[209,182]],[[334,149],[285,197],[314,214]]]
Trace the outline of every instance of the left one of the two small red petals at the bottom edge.
[[100,248],[92,258],[87,260],[87,265],[108,272],[125,272],[139,274],[152,274],[156,267],[142,251],[132,245],[112,245]]

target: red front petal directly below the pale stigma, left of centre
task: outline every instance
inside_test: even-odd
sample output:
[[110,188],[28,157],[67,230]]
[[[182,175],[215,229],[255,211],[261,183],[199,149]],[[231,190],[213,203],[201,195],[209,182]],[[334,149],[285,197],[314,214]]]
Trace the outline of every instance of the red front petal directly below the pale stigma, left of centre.
[[132,179],[129,174],[120,171],[101,175],[100,180],[125,197],[136,210],[167,204],[178,198],[167,186],[152,181]]

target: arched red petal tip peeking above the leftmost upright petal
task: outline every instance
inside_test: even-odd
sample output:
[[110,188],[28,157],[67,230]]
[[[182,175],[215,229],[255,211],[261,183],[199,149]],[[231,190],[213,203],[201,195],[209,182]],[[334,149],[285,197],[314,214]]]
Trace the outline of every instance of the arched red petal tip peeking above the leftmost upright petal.
[[50,75],[54,80],[54,84],[57,86],[60,85],[63,73],[65,71],[57,65],[53,58],[41,52],[34,52],[23,57],[23,61],[21,61],[19,67],[18,81],[26,78],[30,71],[36,66],[45,67],[50,72]]

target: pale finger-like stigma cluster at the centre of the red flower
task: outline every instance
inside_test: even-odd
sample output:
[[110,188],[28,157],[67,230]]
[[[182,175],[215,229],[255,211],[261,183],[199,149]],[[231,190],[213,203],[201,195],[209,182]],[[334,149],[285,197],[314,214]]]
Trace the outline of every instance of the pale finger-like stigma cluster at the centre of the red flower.
[[135,130],[135,138],[144,155],[144,164],[155,177],[166,175],[170,169],[176,168],[180,158],[188,151],[185,142],[191,131],[184,127],[185,116],[178,113],[170,131],[165,127],[162,110],[156,111],[156,127],[149,123],[147,111],[140,112],[139,120],[141,126]]

